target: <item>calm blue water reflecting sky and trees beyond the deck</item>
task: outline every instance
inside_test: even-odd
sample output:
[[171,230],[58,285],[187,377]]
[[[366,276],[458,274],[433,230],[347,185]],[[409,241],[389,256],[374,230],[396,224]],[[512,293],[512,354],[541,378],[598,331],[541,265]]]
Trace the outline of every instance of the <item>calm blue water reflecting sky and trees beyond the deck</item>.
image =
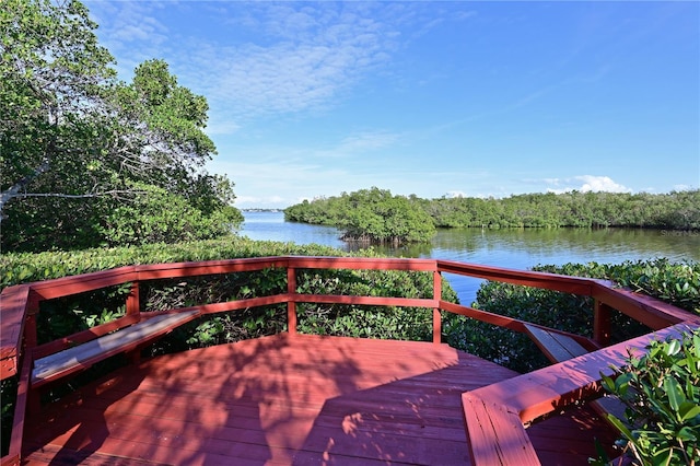
[[[241,234],[252,240],[316,243],[348,251],[329,226],[284,221],[282,212],[244,212]],[[666,257],[674,261],[700,261],[700,232],[658,230],[439,230],[430,244],[380,248],[396,257],[424,257],[483,264],[513,269],[567,263],[619,264]],[[470,304],[479,279],[445,275],[459,295]]]

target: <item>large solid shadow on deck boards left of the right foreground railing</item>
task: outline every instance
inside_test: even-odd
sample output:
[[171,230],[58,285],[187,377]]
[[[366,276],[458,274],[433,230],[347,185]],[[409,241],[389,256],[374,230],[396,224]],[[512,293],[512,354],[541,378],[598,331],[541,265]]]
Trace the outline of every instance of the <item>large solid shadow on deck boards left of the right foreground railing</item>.
[[428,372],[328,399],[294,464],[468,464],[462,393],[516,374],[445,348]]

